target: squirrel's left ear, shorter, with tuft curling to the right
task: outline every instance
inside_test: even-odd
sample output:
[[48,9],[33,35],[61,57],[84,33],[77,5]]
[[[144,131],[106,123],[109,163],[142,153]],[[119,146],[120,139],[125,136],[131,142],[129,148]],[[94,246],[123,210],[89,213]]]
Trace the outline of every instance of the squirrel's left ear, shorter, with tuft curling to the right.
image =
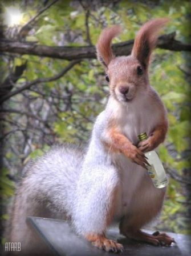
[[99,59],[105,67],[107,67],[111,59],[115,57],[112,53],[111,41],[120,32],[121,27],[119,25],[115,25],[104,29],[100,34],[96,45],[97,59]]

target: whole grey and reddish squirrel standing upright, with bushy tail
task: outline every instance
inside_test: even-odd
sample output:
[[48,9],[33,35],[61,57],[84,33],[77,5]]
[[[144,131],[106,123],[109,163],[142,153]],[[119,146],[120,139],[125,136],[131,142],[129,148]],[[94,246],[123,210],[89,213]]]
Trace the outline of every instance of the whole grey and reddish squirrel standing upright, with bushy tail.
[[[89,145],[52,147],[29,167],[18,188],[9,241],[21,242],[27,255],[40,248],[40,239],[26,225],[28,215],[70,219],[77,234],[105,251],[123,251],[123,245],[105,235],[113,221],[119,222],[125,237],[153,245],[174,242],[165,233],[141,231],[160,213],[166,190],[153,186],[144,155],[159,146],[168,131],[166,109],[148,77],[157,34],[166,22],[159,18],[145,23],[131,54],[121,57],[111,47],[121,27],[102,31],[96,51],[110,95]],[[139,142],[137,135],[144,132],[148,139]]]

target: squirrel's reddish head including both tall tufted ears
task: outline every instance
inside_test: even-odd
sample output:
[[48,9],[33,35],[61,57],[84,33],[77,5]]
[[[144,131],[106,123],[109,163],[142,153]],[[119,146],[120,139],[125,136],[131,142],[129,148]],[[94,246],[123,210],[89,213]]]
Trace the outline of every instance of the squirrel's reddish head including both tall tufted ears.
[[102,31],[96,45],[97,58],[105,67],[105,79],[117,101],[126,104],[147,91],[151,53],[166,22],[168,19],[160,18],[145,23],[137,33],[131,55],[121,57],[116,57],[111,49],[112,39],[121,32],[121,27],[115,25]]

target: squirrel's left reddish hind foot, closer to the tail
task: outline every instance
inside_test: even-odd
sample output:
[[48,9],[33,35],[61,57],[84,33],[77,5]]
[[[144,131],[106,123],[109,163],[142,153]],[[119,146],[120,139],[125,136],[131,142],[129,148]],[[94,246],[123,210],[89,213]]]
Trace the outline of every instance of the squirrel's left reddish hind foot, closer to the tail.
[[104,235],[86,235],[86,239],[92,243],[92,245],[105,251],[112,251],[113,253],[119,253],[123,251],[123,245],[113,240],[109,240]]

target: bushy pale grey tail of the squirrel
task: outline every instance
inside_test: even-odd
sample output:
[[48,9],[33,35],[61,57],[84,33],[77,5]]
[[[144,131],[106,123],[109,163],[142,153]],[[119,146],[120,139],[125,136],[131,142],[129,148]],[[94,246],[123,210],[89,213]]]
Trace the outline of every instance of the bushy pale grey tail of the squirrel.
[[27,216],[65,219],[70,215],[82,159],[82,149],[56,146],[26,171],[6,232],[7,242],[21,243],[22,255],[47,255],[42,239],[27,225]]

